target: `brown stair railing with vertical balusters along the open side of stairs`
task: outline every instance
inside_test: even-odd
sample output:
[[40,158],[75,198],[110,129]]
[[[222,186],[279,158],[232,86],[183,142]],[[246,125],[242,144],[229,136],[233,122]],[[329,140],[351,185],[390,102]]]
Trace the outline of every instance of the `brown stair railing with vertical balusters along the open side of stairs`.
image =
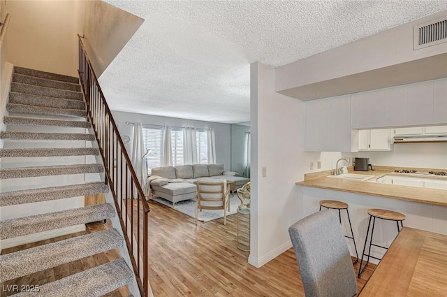
[[[126,241],[129,256],[131,257],[133,272],[137,277],[140,294],[142,296],[149,296],[149,277],[147,269],[147,224],[150,211],[149,203],[147,203],[140,182],[138,182],[138,176],[133,169],[131,159],[129,158],[129,154],[126,152],[126,148],[118,131],[117,124],[115,123],[115,119],[113,119],[110,108],[105,101],[105,96],[98,83],[98,78],[96,77],[94,69],[91,66],[91,61],[85,50],[82,37],[79,34],[78,39],[78,73],[82,92],[84,93],[85,100],[87,102],[88,116],[91,121],[96,140],[98,141],[99,151],[105,167],[105,183],[110,185],[110,190],[119,214],[119,222],[125,235],[124,240]],[[136,214],[133,212],[134,198],[138,198]],[[123,205],[123,200],[125,201],[125,205]],[[142,217],[140,217],[140,204],[142,205]],[[134,219],[136,220],[136,231],[133,229]],[[143,228],[142,236],[140,237],[141,224]],[[134,247],[134,242],[136,247]],[[141,257],[142,265],[140,265],[140,245],[142,245],[143,249]]]

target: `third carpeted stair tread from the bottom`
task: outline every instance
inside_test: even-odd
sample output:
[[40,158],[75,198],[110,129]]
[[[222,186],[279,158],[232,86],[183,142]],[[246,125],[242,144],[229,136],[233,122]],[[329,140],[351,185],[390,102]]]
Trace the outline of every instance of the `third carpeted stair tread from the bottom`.
[[115,208],[108,203],[73,208],[42,215],[32,215],[0,221],[0,239],[15,238],[28,234],[87,224],[115,217]]

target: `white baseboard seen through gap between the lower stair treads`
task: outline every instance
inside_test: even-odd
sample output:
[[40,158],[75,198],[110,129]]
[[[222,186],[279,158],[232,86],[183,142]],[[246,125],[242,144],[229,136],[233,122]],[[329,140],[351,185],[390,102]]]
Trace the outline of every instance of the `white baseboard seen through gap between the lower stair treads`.
[[[55,238],[58,236],[64,236],[71,233],[85,231],[85,224],[76,226],[69,226],[60,229],[54,229],[49,231],[43,231],[39,233],[29,234],[25,236],[19,236],[15,238],[3,239],[0,241],[1,249],[8,249],[9,247],[17,247],[17,245],[26,245],[31,242],[38,242],[45,239]],[[1,250],[0,250],[1,252]]]

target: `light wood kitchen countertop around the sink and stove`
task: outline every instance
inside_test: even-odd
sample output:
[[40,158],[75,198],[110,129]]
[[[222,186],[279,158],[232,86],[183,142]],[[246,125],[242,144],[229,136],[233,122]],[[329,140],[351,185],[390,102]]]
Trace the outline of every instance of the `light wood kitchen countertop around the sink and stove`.
[[[446,177],[439,177],[432,175],[411,175],[407,173],[399,174],[394,173],[396,169],[402,168],[390,168],[385,166],[374,166],[374,171],[353,171],[349,168],[349,173],[374,175],[374,178],[365,181],[358,180],[344,180],[339,178],[326,178],[327,175],[331,175],[332,171],[323,171],[318,173],[309,173],[305,175],[305,180],[302,182],[296,182],[298,186],[302,187],[314,187],[320,189],[330,189],[334,191],[346,191],[356,194],[365,194],[372,196],[380,196],[385,198],[393,198],[404,201],[413,201],[418,203],[434,204],[447,206],[447,191],[441,189],[427,189],[420,187],[408,187],[395,184],[381,184],[376,183],[374,180],[383,175],[400,175],[400,176],[418,176],[419,178],[439,178],[446,179]],[[420,172],[425,171],[443,171],[439,169],[431,168],[409,168],[411,170],[417,170]],[[445,169],[444,169],[445,171]]]

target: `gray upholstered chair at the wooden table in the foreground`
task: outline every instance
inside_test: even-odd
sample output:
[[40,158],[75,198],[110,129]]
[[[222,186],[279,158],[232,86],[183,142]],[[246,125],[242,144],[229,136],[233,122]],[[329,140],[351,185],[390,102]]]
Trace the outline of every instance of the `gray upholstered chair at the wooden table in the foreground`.
[[356,296],[356,275],[336,212],[309,215],[293,224],[288,233],[306,296]]

